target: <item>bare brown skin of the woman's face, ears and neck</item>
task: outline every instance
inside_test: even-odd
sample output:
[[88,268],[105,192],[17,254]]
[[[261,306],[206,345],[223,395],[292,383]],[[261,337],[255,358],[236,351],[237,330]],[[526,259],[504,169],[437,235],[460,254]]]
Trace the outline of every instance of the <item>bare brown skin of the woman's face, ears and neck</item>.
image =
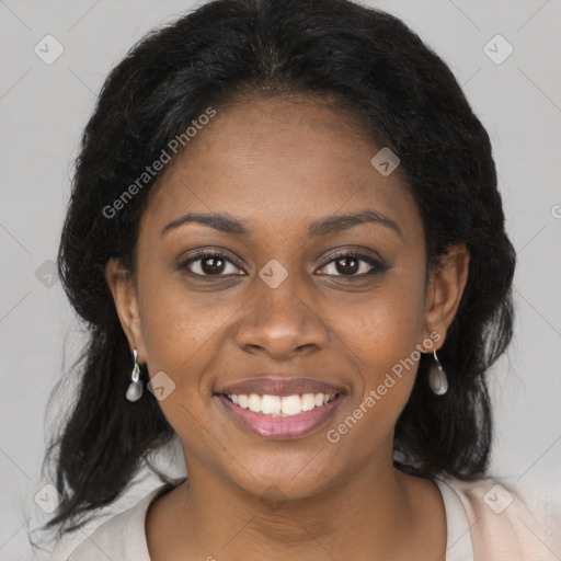
[[[159,403],[182,439],[188,481],[150,505],[151,558],[444,559],[438,489],[392,466],[416,365],[337,443],[325,434],[431,333],[439,341],[426,352],[442,346],[467,279],[466,248],[451,247],[426,276],[421,215],[399,168],[382,176],[370,164],[379,148],[318,100],[242,101],[218,111],[187,148],[150,194],[136,274],[115,260],[106,267],[130,350],[151,377],[164,371],[175,383]],[[370,222],[307,236],[314,220],[365,209],[399,233]],[[254,233],[190,222],[161,234],[187,211],[228,214]],[[195,277],[202,261],[191,276],[178,270],[199,248],[242,266],[226,264],[210,279]],[[373,268],[364,261],[354,273],[337,268],[340,249],[387,270],[363,275]],[[272,259],[288,273],[276,288],[259,276]],[[213,394],[262,373],[341,383],[346,393],[319,430],[265,439]]]

